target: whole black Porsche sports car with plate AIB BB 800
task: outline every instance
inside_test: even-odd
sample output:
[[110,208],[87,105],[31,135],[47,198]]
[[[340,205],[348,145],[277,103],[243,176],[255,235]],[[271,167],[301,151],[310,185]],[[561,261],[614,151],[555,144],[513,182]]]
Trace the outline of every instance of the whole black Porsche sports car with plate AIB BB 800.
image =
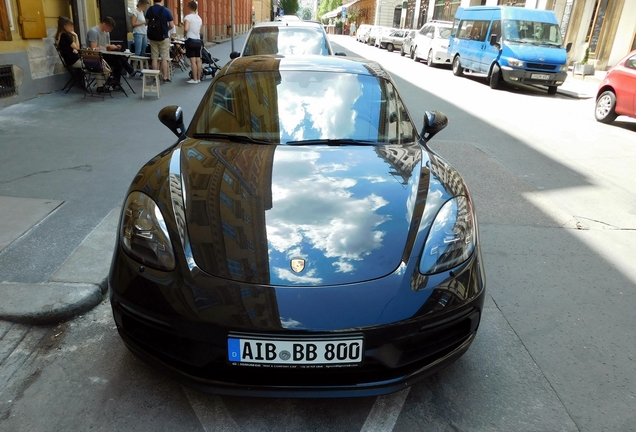
[[128,348],[195,388],[403,389],[475,338],[485,277],[460,175],[388,74],[335,56],[238,58],[130,186],[109,277]]

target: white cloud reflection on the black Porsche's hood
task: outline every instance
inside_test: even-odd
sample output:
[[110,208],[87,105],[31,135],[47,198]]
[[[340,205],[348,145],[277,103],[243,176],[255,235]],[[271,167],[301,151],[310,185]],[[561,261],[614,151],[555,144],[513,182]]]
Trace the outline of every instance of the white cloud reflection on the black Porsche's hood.
[[[316,151],[276,153],[273,207],[266,214],[268,240],[270,248],[287,259],[309,256],[317,249],[331,259],[335,272],[346,273],[381,247],[385,232],[377,228],[390,217],[376,211],[387,201],[372,192],[356,196],[352,188],[358,181],[332,175],[333,164],[320,159]],[[276,272],[281,279],[301,282],[287,269]]]

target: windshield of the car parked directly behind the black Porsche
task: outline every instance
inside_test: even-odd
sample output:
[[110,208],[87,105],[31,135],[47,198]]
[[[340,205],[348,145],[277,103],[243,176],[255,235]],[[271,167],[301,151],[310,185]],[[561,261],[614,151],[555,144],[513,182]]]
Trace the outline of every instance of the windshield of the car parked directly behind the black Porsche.
[[312,27],[260,27],[252,29],[243,56],[261,54],[330,55],[325,32]]

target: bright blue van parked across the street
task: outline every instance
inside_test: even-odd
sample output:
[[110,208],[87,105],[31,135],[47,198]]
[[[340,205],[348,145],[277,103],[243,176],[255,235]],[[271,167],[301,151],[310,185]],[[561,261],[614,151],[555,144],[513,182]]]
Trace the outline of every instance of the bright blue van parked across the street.
[[448,53],[456,76],[468,69],[487,74],[493,89],[506,81],[542,84],[555,94],[567,77],[562,43],[552,11],[475,6],[457,10]]

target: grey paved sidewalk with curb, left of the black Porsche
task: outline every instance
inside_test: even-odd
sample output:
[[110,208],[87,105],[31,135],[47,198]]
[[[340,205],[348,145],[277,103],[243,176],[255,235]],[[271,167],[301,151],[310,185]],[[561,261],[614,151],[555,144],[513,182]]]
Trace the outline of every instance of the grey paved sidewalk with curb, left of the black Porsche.
[[[229,41],[206,44],[221,66]],[[161,98],[142,99],[142,81],[129,79],[129,97],[84,99],[74,88],[0,109],[0,321],[57,324],[104,300],[119,206],[143,164],[127,159],[173,142],[160,108],[182,106],[187,124],[211,82],[187,84],[188,72],[175,69]]]

